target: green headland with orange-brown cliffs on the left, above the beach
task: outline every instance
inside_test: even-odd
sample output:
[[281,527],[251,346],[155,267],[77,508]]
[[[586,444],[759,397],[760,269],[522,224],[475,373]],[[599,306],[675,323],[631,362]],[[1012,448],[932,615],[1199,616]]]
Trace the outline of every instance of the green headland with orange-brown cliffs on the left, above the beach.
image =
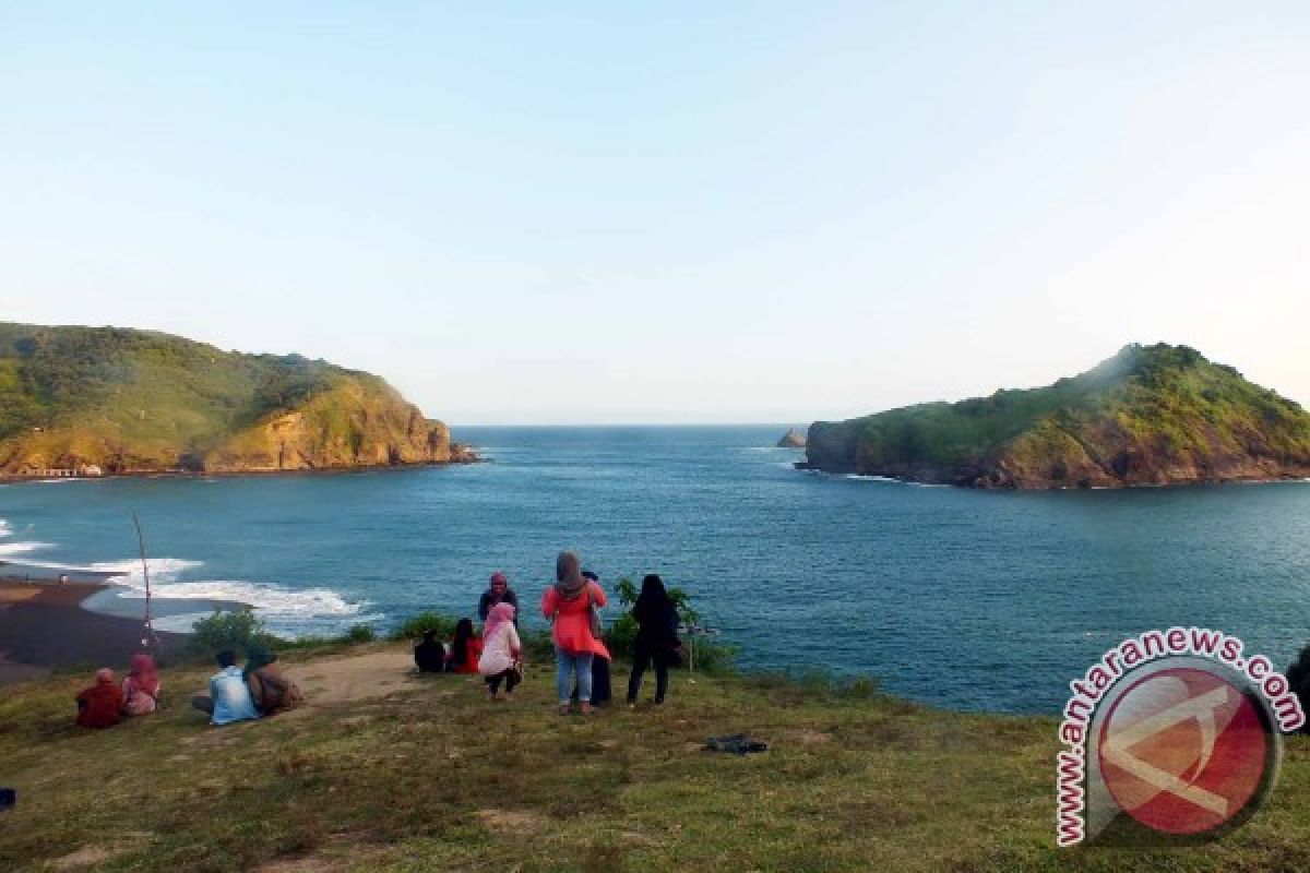
[[376,376],[153,331],[0,323],[0,474],[441,463],[449,433]]

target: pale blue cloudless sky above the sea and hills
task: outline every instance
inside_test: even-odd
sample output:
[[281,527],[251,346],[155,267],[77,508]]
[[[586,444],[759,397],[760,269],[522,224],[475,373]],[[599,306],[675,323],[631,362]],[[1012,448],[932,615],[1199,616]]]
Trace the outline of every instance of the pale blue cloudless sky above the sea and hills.
[[804,424],[1186,343],[1310,404],[1310,4],[0,0],[0,321],[453,424]]

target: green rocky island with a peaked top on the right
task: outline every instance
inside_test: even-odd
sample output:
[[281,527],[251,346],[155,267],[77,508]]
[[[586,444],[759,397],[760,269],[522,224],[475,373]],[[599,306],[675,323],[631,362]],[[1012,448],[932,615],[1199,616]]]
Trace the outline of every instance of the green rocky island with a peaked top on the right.
[[971,487],[1310,476],[1310,414],[1186,346],[1127,346],[1072,378],[810,427],[807,466]]

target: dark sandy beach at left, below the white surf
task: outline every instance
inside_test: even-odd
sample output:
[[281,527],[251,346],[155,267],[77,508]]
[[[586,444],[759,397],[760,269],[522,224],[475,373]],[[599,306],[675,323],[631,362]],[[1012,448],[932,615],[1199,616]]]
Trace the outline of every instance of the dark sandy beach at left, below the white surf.
[[[106,590],[98,582],[0,579],[0,685],[56,666],[123,665],[139,650],[141,622],[83,609]],[[162,652],[179,649],[185,633],[159,633]]]

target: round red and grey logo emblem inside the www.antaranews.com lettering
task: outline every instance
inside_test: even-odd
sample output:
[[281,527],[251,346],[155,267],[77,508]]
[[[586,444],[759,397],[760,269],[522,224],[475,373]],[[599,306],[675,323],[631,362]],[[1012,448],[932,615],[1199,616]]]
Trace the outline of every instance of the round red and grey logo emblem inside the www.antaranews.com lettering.
[[1115,804],[1155,831],[1199,835],[1259,802],[1273,766],[1259,704],[1205,669],[1133,682],[1100,726],[1100,774]]

